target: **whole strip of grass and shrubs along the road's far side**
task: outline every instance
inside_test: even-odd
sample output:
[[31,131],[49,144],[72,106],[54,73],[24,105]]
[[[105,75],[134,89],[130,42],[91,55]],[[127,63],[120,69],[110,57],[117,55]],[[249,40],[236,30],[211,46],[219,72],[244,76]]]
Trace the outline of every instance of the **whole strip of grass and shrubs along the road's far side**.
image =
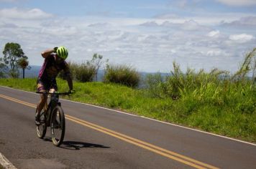
[[[170,75],[150,74],[142,79],[132,67],[108,65],[104,82],[91,82],[91,77],[79,79],[76,72],[91,64],[76,64],[77,70],[72,70],[76,93],[65,99],[256,143],[255,55],[256,48],[246,54],[235,74],[219,69],[196,72],[188,68],[182,72],[174,62]],[[144,86],[138,88],[140,81]],[[35,78],[0,79],[0,84],[31,92],[36,90]],[[60,91],[68,90],[68,84],[61,78],[58,78],[58,87]]]

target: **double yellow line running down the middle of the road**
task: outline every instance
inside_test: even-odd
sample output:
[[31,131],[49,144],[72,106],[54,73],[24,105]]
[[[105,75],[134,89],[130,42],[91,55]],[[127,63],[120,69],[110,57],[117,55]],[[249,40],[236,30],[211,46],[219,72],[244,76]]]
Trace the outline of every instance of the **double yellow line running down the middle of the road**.
[[[17,100],[13,97],[9,97],[9,96],[6,96],[6,95],[1,95],[0,94],[0,97],[6,99],[6,100],[11,100],[12,102],[17,102],[17,103],[20,103],[22,105],[27,105],[29,107],[33,107],[33,108],[36,108],[36,105],[32,104],[32,103],[29,103],[29,102],[24,102],[22,100]],[[183,163],[183,164],[186,164],[186,165],[189,165],[193,168],[212,168],[212,169],[216,169],[216,167],[212,166],[212,165],[209,165],[209,164],[206,164],[206,163],[202,163],[198,160],[194,160],[193,158],[188,158],[184,155],[180,155],[178,153],[175,153],[175,152],[172,152],[170,150],[165,150],[163,148],[160,148],[160,147],[157,147],[156,145],[152,145],[150,143],[146,143],[142,140],[138,140],[134,137],[129,137],[128,135],[124,135],[120,132],[115,132],[114,130],[109,130],[105,127],[101,127],[99,125],[95,125],[91,122],[87,122],[85,120],[81,120],[81,119],[78,119],[76,117],[73,117],[73,116],[70,116],[70,115],[65,115],[65,118],[70,120],[70,121],[73,121],[73,122],[76,122],[80,125],[83,125],[83,126],[86,126],[86,127],[90,127],[91,129],[93,130],[97,130],[99,132],[104,132],[105,134],[107,135],[111,135],[113,137],[116,137],[116,138],[119,138],[120,140],[124,140],[126,141],[127,143],[131,143],[133,145],[137,145],[139,146],[140,148],[145,148],[147,150],[150,150],[154,153],[157,153],[159,155],[163,155],[165,156],[166,158],[170,158],[170,159],[173,159],[173,160],[176,160],[180,163]]]

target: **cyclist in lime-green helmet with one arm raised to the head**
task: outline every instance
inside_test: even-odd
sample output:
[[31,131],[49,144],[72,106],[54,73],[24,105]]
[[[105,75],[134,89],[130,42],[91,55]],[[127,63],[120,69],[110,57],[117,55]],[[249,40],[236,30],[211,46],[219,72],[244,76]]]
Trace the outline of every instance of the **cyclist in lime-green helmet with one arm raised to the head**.
[[[42,52],[42,57],[45,62],[37,78],[38,92],[55,92],[58,90],[56,77],[58,73],[63,70],[68,82],[69,92],[73,90],[73,82],[70,74],[68,63],[65,59],[68,57],[68,49],[65,47],[55,47],[54,49],[47,49]],[[37,104],[37,111],[35,115],[36,125],[40,125],[40,112],[47,102],[47,95],[40,95],[40,102]]]

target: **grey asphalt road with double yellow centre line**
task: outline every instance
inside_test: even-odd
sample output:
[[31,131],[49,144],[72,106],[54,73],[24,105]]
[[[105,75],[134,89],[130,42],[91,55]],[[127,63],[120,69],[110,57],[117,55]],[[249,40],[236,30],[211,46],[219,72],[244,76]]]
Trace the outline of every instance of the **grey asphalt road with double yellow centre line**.
[[0,87],[0,153],[16,168],[256,168],[256,145],[67,100],[60,148],[39,139],[39,96]]

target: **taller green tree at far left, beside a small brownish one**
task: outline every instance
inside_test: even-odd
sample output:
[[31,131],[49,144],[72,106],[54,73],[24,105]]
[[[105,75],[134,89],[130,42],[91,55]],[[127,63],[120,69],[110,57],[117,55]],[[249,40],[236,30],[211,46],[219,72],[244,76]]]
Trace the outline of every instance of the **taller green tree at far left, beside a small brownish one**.
[[2,60],[9,67],[9,75],[19,77],[19,64],[17,62],[19,58],[26,57],[20,45],[13,42],[5,44],[3,54],[4,58]]

